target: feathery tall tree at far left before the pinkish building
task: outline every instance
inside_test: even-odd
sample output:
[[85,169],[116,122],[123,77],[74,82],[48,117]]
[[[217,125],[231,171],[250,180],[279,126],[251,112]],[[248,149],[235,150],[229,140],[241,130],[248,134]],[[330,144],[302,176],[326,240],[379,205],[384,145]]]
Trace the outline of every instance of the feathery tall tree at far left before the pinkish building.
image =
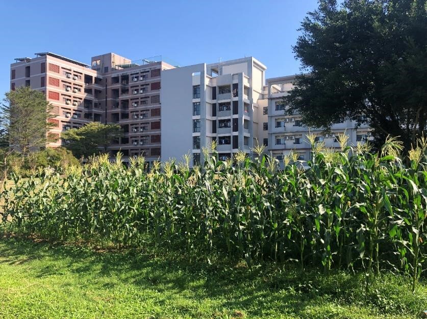
[[44,148],[48,141],[47,131],[52,127],[48,120],[56,116],[51,114],[52,105],[44,94],[28,86],[20,86],[7,92],[4,102],[0,116],[10,148],[24,156]]

